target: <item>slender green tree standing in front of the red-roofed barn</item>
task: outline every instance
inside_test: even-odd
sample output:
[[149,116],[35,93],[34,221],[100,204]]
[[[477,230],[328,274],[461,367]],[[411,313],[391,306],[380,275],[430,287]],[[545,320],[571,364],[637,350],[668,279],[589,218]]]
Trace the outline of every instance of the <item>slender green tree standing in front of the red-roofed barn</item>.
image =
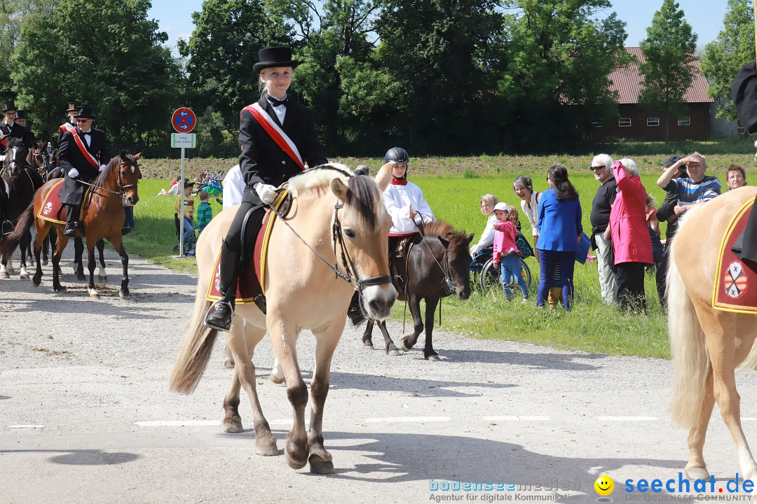
[[670,117],[684,108],[684,94],[691,85],[696,61],[696,33],[675,0],[663,0],[640,48],[644,62],[639,66],[643,77],[639,103],[662,112],[668,140]]

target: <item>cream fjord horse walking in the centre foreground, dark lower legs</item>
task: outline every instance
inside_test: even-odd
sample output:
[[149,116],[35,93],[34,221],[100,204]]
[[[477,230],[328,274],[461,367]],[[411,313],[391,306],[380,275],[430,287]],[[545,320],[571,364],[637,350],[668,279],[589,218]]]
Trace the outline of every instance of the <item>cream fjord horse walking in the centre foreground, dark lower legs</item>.
[[[223,430],[242,430],[238,404],[239,389],[244,386],[253,411],[257,453],[268,456],[279,453],[276,438],[260,409],[252,363],[255,345],[267,330],[276,353],[276,366],[283,369],[294,413],[284,452],[291,468],[302,468],[310,462],[310,472],[334,472],[332,456],[323,447],[322,419],[332,355],[344,329],[354,284],[363,292],[366,310],[377,320],[388,317],[397,295],[389,278],[386,249],[391,219],[381,192],[390,178],[391,171],[382,169],[376,184],[371,178],[352,175],[343,165],[322,165],[291,178],[288,183],[293,196],[291,209],[283,221],[275,221],[267,245],[262,281],[266,314],[254,303],[238,304],[231,330],[226,333],[226,342],[235,357],[235,371],[223,400],[226,412]],[[210,359],[218,332],[203,325],[210,308],[205,295],[221,240],[234,212],[235,208],[227,209],[213,218],[198,240],[195,311],[173,368],[170,380],[173,391],[188,394],[195,390]],[[310,329],[316,338],[309,432],[305,429],[307,386],[297,357],[302,329]]]

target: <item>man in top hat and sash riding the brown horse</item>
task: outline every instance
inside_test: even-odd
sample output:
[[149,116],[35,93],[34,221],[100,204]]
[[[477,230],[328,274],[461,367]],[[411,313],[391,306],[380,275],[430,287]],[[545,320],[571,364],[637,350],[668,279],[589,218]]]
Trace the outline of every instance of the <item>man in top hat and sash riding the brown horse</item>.
[[84,231],[79,222],[79,206],[86,186],[79,181],[92,182],[111,160],[104,132],[92,128],[95,120],[92,107],[79,107],[73,117],[76,128],[64,133],[58,148],[58,161],[66,174],[60,196],[61,203],[66,205],[67,237],[76,237],[77,230],[82,234]]

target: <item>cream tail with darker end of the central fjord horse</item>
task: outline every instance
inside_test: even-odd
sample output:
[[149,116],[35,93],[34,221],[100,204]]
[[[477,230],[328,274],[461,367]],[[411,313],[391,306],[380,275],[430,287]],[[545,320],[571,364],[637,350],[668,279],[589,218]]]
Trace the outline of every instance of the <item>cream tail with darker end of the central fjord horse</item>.
[[218,335],[216,329],[210,329],[203,324],[208,308],[210,301],[206,301],[204,289],[198,288],[195,295],[195,313],[184,335],[182,351],[173,365],[169,384],[171,391],[192,394],[205,372],[210,352],[213,351],[213,343]]

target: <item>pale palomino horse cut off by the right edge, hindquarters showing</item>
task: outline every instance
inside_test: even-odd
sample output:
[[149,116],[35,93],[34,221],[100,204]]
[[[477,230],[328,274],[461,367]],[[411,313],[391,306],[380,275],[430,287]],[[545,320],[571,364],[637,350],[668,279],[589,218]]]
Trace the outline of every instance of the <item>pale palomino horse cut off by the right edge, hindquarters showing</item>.
[[757,317],[712,308],[715,266],[725,230],[755,193],[757,187],[741,187],[695,207],[686,213],[672,244],[668,267],[668,332],[675,369],[671,419],[690,428],[686,472],[692,479],[709,478],[702,447],[716,401],[739,453],[740,476],[757,478],[757,465],[741,428],[734,373],[740,364],[754,367]]

